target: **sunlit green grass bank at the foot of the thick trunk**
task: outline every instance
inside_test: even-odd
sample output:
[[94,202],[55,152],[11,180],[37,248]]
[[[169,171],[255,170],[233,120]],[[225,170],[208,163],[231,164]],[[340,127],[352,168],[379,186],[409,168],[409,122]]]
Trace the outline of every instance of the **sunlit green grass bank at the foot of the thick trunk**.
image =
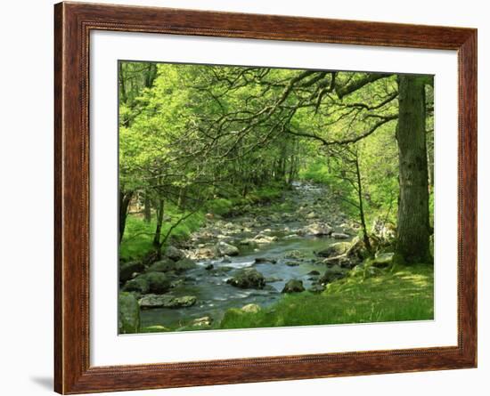
[[418,264],[340,279],[320,295],[284,295],[257,313],[231,309],[216,328],[284,327],[434,319],[433,267]]

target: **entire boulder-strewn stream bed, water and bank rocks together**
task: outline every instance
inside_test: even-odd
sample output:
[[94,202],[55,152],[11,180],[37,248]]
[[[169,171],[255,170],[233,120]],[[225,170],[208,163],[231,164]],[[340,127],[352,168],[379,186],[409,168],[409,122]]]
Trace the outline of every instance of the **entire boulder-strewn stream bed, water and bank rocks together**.
[[[241,214],[208,214],[191,238],[178,249],[169,248],[158,263],[140,266],[143,275],[132,273],[122,290],[139,302],[142,332],[282,326],[264,315],[270,319],[271,311],[289,301],[284,295],[318,298],[362,261],[357,251],[346,255],[356,234],[355,222],[339,210],[325,187],[296,182],[281,198],[249,206]],[[313,302],[306,311],[315,310]],[[288,309],[279,311],[284,316]],[[304,315],[290,315],[291,323],[303,324]],[[313,324],[329,323],[324,317],[317,320]]]

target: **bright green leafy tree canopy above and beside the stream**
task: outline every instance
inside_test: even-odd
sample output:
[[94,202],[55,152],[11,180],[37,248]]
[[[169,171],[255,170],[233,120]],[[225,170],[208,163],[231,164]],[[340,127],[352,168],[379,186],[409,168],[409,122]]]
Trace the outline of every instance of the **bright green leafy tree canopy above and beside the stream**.
[[[421,78],[430,166],[433,89]],[[396,223],[397,90],[394,74],[119,62],[122,254],[159,249],[176,207],[229,215],[298,179],[327,184],[364,235],[375,219]],[[135,207],[153,215],[136,232]]]

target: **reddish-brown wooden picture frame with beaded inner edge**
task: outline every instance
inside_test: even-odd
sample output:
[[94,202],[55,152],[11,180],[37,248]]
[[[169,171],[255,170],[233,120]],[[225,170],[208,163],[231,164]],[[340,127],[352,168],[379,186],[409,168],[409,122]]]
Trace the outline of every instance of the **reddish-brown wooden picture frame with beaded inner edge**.
[[[82,3],[56,4],[54,29],[56,392],[110,392],[477,366],[476,29]],[[92,30],[456,50],[457,346],[91,367],[88,67]]]

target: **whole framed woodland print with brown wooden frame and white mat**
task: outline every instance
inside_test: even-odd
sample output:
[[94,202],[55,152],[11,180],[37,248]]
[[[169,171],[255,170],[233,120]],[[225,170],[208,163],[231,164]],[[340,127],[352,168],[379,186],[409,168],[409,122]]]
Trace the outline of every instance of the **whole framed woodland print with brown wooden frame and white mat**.
[[477,366],[477,30],[60,3],[63,394]]

